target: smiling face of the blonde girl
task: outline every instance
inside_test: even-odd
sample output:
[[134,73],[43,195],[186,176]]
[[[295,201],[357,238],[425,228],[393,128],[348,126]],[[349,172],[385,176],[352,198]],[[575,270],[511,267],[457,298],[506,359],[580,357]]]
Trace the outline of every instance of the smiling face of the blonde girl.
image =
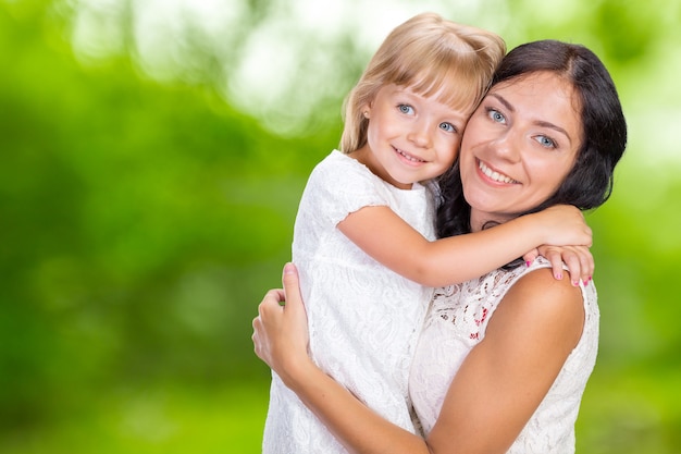
[[351,156],[386,182],[409,189],[451,167],[472,109],[456,110],[437,96],[386,85],[363,109],[369,116],[367,145]]

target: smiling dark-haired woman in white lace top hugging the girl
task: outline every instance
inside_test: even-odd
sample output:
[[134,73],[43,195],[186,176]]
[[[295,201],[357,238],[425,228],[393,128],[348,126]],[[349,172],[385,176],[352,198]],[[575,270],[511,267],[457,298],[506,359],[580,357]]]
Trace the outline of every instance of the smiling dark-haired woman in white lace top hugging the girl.
[[[553,40],[516,48],[441,182],[438,234],[556,204],[599,206],[626,138],[617,91],[593,52]],[[596,292],[553,279],[548,267],[511,263],[436,292],[409,383],[425,440],[380,418],[309,359],[292,266],[286,294],[268,293],[253,320],[256,353],[350,452],[573,452],[597,348]]]

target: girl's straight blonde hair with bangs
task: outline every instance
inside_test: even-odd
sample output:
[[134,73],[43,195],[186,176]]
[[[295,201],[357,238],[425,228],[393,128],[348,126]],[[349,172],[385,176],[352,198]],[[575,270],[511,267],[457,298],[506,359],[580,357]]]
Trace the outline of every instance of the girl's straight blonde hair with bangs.
[[454,109],[471,112],[485,95],[506,44],[496,34],[447,21],[435,13],[416,15],[385,38],[345,100],[340,151],[367,143],[362,109],[388,84],[407,86],[422,96],[436,95]]

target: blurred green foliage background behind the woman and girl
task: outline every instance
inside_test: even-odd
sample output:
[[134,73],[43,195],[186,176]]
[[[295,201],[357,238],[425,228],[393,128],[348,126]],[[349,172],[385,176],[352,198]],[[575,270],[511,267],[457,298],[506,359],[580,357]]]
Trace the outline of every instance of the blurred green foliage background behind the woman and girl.
[[250,322],[392,27],[582,42],[630,126],[580,453],[681,453],[676,0],[0,0],[0,453],[259,453]]

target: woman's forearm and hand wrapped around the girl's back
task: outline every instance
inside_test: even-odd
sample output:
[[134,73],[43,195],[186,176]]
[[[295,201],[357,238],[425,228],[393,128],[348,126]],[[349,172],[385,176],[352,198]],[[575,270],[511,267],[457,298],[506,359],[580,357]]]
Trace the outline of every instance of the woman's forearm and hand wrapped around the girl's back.
[[[372,412],[325,375],[307,353],[308,329],[295,266],[284,268],[283,290],[269,291],[253,319],[256,355],[274,370],[350,453],[428,454],[418,435]],[[280,303],[285,302],[285,306]]]

